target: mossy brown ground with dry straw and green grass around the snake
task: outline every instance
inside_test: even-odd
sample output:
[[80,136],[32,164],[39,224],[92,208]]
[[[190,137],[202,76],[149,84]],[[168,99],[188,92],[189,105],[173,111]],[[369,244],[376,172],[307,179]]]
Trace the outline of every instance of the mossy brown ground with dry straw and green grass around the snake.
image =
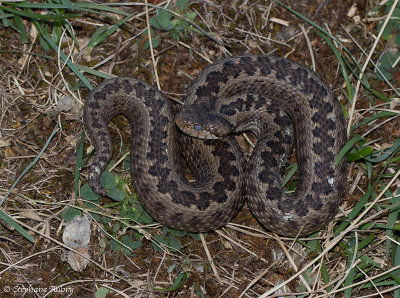
[[[144,3],[112,2],[107,7],[116,11],[94,3],[73,10],[0,5],[1,297],[398,296],[400,74],[385,62],[398,57],[396,20],[374,45],[396,1],[282,1],[299,15],[277,1],[149,0],[148,11]],[[166,2],[174,14],[160,9],[157,17],[157,6]],[[38,18],[63,14],[67,21]],[[108,27],[100,32],[101,26]],[[328,227],[297,241],[280,237],[247,206],[206,235],[161,227],[132,194],[129,158],[120,161],[130,144],[123,117],[110,126],[111,183],[118,194],[99,200],[90,193],[91,148],[81,138],[85,79],[95,86],[110,75],[139,77],[176,102],[212,61],[270,52],[310,68],[314,60],[351,126],[346,195]],[[379,78],[373,62],[388,80]],[[91,262],[85,267],[84,258],[72,255],[81,271],[71,269],[63,240],[77,210],[92,216],[88,247],[75,247]]]

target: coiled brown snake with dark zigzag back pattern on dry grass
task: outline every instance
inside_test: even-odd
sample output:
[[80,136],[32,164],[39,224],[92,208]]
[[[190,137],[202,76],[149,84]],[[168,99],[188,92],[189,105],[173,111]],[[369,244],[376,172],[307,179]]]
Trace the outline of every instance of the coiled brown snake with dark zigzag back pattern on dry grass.
[[[107,196],[100,177],[112,159],[108,124],[123,114],[131,129],[130,173],[145,210],[164,226],[208,232],[248,206],[270,231],[289,237],[325,228],[344,196],[347,141],[342,106],[311,69],[273,55],[216,61],[186,88],[176,107],[151,84],[115,77],[97,85],[83,107],[95,148],[88,182]],[[238,143],[256,142],[249,156]],[[282,187],[295,148],[297,186]]]

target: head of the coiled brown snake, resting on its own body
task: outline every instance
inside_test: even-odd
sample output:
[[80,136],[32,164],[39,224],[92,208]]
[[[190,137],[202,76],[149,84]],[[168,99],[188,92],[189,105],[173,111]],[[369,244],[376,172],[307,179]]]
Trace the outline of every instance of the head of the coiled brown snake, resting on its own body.
[[198,104],[185,106],[175,123],[181,131],[199,139],[219,139],[234,131],[233,125],[223,116]]

